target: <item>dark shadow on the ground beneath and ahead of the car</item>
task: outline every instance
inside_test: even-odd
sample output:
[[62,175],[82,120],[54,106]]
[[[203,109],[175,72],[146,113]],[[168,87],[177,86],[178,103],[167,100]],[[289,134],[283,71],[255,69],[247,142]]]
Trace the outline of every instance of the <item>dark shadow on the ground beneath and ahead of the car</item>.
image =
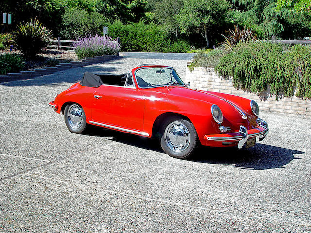
[[[139,137],[100,127],[90,126],[85,135],[106,137],[109,140],[127,145],[164,153],[156,139]],[[200,146],[192,157],[185,161],[220,164],[241,169],[264,170],[283,168],[284,165],[299,160],[296,155],[303,151],[256,143],[255,146],[239,150],[237,148],[212,148]]]

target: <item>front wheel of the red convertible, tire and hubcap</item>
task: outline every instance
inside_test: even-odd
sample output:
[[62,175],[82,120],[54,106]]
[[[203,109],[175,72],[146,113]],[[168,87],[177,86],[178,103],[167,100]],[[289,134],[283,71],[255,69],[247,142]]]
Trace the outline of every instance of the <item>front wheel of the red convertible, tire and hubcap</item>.
[[169,117],[163,123],[160,133],[161,147],[168,155],[188,159],[194,153],[198,135],[189,120]]

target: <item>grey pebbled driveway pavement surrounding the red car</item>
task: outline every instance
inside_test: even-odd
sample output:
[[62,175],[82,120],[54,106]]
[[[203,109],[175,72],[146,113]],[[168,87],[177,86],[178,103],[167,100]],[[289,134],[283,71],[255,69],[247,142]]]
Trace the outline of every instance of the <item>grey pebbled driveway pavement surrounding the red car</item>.
[[121,58],[0,83],[0,233],[311,232],[311,120],[262,112],[270,134],[248,150],[191,160],[157,141],[92,128],[70,133],[47,103],[85,71],[122,73]]

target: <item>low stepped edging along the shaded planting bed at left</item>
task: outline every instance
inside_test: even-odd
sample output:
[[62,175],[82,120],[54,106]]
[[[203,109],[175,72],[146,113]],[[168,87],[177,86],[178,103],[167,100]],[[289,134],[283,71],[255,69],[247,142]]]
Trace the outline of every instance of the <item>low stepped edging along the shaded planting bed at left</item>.
[[41,75],[52,74],[56,71],[61,71],[74,67],[83,67],[91,64],[101,63],[104,61],[110,61],[119,58],[116,55],[103,55],[95,57],[86,57],[80,61],[71,61],[69,63],[59,63],[55,67],[44,67],[42,69],[22,70],[18,73],[7,73],[6,75],[0,75],[0,83],[9,82],[14,80],[30,79]]

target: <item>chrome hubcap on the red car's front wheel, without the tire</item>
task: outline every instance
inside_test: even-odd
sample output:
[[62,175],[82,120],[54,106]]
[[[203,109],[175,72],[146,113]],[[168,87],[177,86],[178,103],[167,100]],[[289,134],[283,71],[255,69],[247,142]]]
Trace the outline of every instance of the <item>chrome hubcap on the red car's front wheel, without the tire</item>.
[[166,145],[175,152],[186,150],[190,143],[190,133],[187,127],[180,122],[172,122],[164,132]]

